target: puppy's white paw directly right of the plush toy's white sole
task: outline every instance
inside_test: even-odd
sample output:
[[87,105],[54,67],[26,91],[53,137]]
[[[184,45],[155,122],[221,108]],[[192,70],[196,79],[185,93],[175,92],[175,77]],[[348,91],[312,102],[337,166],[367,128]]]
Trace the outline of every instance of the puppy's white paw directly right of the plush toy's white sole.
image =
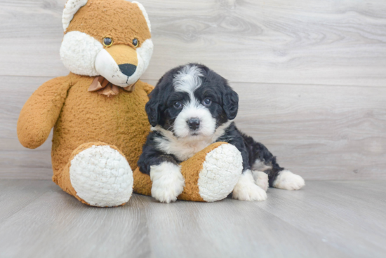
[[232,198],[241,201],[265,201],[267,193],[255,184],[251,170],[246,170],[234,186]]

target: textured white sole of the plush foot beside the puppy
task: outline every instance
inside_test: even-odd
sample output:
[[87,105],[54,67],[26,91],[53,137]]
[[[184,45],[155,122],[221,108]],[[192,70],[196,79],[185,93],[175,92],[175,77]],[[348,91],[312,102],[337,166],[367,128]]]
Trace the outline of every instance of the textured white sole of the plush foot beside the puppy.
[[243,158],[232,144],[221,144],[206,154],[199,174],[199,194],[204,201],[226,198],[237,184],[243,171]]

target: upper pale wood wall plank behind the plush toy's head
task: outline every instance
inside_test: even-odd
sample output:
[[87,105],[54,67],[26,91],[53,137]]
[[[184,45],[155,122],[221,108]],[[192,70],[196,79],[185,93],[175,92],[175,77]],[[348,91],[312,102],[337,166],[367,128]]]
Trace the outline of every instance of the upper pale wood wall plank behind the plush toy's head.
[[[230,81],[385,86],[386,2],[156,1],[144,79],[201,62]],[[0,3],[0,75],[62,76],[65,0]]]

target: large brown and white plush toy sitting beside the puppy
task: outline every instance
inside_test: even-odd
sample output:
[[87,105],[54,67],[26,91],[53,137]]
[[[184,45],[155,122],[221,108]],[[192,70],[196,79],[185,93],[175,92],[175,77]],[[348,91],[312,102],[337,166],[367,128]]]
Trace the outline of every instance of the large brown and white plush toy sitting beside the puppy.
[[[62,24],[60,57],[70,73],[29,97],[18,120],[20,143],[39,147],[53,128],[53,182],[82,203],[123,205],[133,186],[151,195],[149,175],[137,168],[153,89],[139,80],[153,51],[145,8],[124,0],[69,0]],[[181,168],[185,188],[178,198],[218,201],[237,183],[241,155],[216,143]]]

